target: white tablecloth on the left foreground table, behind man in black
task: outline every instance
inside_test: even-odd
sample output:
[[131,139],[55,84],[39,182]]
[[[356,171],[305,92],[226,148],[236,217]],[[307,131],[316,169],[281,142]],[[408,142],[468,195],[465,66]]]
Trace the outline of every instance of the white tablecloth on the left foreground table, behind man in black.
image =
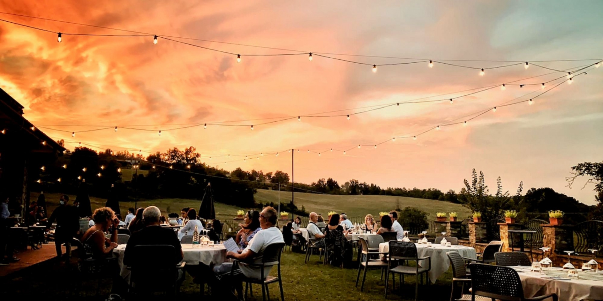
[[[130,271],[124,265],[124,251],[125,244],[120,244],[113,253],[118,256],[119,275],[126,281],[130,281]],[[223,244],[215,244],[213,247],[192,247],[192,244],[182,244],[182,252],[184,253],[183,261],[186,265],[198,265],[199,262],[203,264],[222,264],[226,259],[226,248]]]

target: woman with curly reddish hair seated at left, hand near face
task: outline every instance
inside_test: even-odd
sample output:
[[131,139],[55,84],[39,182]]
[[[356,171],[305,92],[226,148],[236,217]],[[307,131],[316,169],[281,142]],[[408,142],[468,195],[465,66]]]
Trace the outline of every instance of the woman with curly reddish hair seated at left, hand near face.
[[[92,214],[94,225],[81,238],[86,253],[95,258],[110,256],[117,246],[117,228],[119,220],[109,207],[98,208]],[[113,228],[111,239],[105,237],[105,232]],[[108,246],[107,246],[108,245]]]

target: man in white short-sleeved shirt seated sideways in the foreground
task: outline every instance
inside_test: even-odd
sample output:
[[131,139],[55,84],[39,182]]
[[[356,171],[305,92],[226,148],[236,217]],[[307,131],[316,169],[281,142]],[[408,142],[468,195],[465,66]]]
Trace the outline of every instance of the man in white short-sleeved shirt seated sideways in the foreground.
[[[227,296],[235,297],[232,293],[232,286],[240,282],[238,281],[238,278],[241,274],[247,278],[261,278],[260,267],[251,267],[243,262],[247,261],[260,264],[262,263],[262,254],[267,246],[273,243],[285,243],[283,234],[280,232],[279,228],[276,228],[277,218],[277,212],[274,208],[270,206],[264,208],[260,213],[260,228],[262,228],[262,230],[256,233],[244,250],[239,250],[239,252],[236,253],[226,253],[227,257],[241,261],[239,268],[233,269],[232,262],[226,262],[213,268],[213,272],[218,279],[215,283],[215,289],[212,290],[213,294],[226,292]],[[268,276],[270,273],[270,268],[271,267],[264,268],[265,276]]]

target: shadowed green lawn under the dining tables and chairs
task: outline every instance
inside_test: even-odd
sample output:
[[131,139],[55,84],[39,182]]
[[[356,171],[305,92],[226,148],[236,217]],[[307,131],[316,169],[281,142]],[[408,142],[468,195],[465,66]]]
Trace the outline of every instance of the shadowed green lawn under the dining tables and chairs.
[[[45,246],[46,247],[46,246]],[[282,276],[285,300],[338,300],[352,301],[384,300],[384,281],[380,280],[380,270],[368,270],[364,291],[355,287],[355,268],[339,268],[318,262],[318,255],[312,256],[311,261],[304,263],[304,254],[285,252],[282,256]],[[274,273],[276,268],[273,269]],[[12,275],[10,279],[2,279],[0,293],[3,296],[36,297],[44,296],[52,300],[58,296],[65,296],[71,289],[69,272],[64,265],[46,262],[24,270],[19,275]],[[450,298],[451,272],[440,276],[433,285],[419,286],[419,300],[448,300]],[[406,284],[400,292],[397,279],[396,291],[388,291],[387,300],[414,300],[415,280],[412,276],[405,278]],[[105,300],[109,295],[111,281],[106,280],[101,284],[99,297],[80,297],[77,300]],[[84,292],[94,296],[96,281],[83,281]],[[262,300],[262,291],[254,285],[253,297],[250,300]],[[270,285],[271,300],[280,300],[277,284]],[[180,288],[180,296],[184,298],[199,299],[199,286],[192,283],[191,276],[187,275],[186,281]],[[206,299],[209,299],[206,295]],[[61,298],[65,299],[65,298]]]

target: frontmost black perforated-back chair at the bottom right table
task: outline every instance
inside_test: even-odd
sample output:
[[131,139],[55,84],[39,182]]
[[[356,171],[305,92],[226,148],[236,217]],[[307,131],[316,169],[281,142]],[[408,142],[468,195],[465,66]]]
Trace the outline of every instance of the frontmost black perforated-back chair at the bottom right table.
[[[523,296],[522,281],[516,270],[510,267],[491,264],[470,264],[471,270],[471,296],[483,296],[491,300],[509,301],[537,301],[552,299],[557,301],[557,294],[547,294],[538,297],[526,298]],[[472,300],[472,299],[458,299]]]

